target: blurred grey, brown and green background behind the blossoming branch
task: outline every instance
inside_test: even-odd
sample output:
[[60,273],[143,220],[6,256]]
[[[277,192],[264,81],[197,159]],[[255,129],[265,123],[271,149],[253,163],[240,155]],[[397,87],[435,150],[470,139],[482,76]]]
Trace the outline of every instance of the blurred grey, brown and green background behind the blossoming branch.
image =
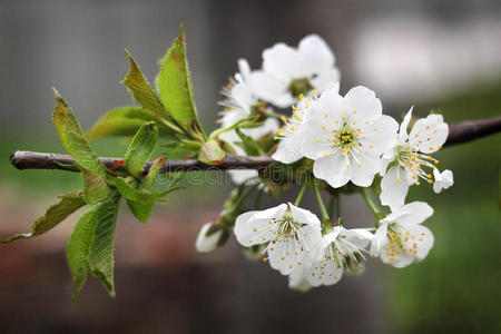
[[[57,195],[79,187],[78,175],[19,171],[8,161],[16,149],[63,151],[50,120],[50,87],[89,128],[106,110],[130,104],[118,84],[128,69],[124,48],[153,81],[180,22],[208,129],[238,58],[257,68],[264,48],[312,32],[334,50],[342,92],[367,86],[397,118],[411,105],[421,116],[439,108],[448,121],[501,110],[501,4],[494,0],[0,1],[2,236],[28,230]],[[455,176],[445,194],[412,190],[409,200],[424,197],[435,208],[429,222],[435,246],[422,264],[395,269],[371,261],[361,277],[291,292],[285,277],[247,261],[233,238],[210,255],[195,252],[198,228],[217,216],[230,187],[190,187],[146,225],[121,210],[115,299],[89,279],[71,304],[65,246],[78,215],[37,239],[0,245],[1,332],[497,333],[499,139],[438,155]],[[96,148],[117,155],[125,143],[101,140]],[[312,203],[305,206],[315,210]],[[372,224],[357,196],[342,205],[348,226]]]

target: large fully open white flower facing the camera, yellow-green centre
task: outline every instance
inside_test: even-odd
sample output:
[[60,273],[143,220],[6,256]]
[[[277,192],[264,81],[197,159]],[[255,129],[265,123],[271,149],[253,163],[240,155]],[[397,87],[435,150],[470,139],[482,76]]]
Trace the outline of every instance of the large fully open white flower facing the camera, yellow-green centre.
[[310,106],[301,127],[304,155],[315,160],[315,177],[338,188],[367,187],[381,169],[381,155],[396,140],[397,122],[382,115],[374,91],[358,86],[344,97],[331,86]]

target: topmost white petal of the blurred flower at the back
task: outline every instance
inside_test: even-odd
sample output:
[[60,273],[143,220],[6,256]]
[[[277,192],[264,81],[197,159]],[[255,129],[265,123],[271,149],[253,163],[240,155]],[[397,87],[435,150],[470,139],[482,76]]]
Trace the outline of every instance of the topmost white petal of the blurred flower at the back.
[[297,48],[303,56],[305,67],[311,73],[323,72],[334,66],[334,55],[327,43],[317,35],[308,35],[299,41]]

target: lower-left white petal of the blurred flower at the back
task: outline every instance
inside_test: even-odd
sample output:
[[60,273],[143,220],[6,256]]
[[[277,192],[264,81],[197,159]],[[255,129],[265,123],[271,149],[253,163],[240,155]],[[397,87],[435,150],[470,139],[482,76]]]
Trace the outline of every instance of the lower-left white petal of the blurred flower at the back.
[[279,108],[289,107],[295,101],[287,91],[288,84],[264,71],[253,71],[249,78],[249,85],[254,94]]

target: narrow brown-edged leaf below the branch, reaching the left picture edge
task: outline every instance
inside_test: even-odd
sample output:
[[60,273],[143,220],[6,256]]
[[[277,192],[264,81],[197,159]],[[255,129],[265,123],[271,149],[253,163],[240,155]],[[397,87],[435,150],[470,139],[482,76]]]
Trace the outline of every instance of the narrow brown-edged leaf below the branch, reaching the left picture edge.
[[11,243],[13,240],[31,238],[45,234],[86,205],[81,193],[69,193],[62,195],[60,198],[61,200],[51,205],[46,214],[33,223],[31,233],[16,234],[6,239],[0,238],[0,243]]

